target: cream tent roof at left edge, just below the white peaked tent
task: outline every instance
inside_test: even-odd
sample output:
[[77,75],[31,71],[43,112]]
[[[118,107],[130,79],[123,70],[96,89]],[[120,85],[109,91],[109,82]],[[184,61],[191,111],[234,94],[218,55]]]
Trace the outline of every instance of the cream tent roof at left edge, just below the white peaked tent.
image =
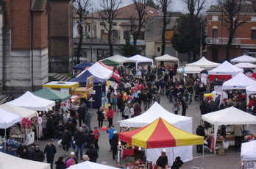
[[0,105],[1,109],[5,109],[9,112],[13,112],[16,115],[21,115],[22,118],[33,118],[37,115],[37,111],[32,110],[32,109],[26,109],[24,107],[18,107],[13,104],[1,104]]

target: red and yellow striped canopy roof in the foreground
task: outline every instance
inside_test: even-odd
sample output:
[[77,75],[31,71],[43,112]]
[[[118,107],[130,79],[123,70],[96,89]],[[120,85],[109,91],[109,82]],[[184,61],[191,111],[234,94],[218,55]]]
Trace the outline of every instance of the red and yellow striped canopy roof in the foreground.
[[163,148],[184,145],[201,145],[204,137],[185,132],[172,126],[163,118],[140,129],[119,133],[119,140],[142,148]]

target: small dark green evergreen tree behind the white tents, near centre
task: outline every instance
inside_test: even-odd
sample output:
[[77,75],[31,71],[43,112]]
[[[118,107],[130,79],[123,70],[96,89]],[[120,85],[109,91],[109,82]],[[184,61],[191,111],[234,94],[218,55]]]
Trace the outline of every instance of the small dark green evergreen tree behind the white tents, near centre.
[[132,57],[135,54],[138,54],[138,48],[136,46],[133,46],[129,43],[131,40],[131,37],[125,38],[125,44],[122,45],[121,49],[121,54],[124,57]]

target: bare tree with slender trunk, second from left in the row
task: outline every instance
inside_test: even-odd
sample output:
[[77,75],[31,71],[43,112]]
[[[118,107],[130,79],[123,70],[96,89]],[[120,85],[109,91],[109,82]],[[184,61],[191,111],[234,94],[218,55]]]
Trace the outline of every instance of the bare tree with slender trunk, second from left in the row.
[[104,29],[108,32],[107,40],[110,46],[110,57],[113,56],[113,20],[120,14],[117,10],[120,4],[121,0],[101,0],[100,5],[103,10],[98,11],[100,18],[102,19]]

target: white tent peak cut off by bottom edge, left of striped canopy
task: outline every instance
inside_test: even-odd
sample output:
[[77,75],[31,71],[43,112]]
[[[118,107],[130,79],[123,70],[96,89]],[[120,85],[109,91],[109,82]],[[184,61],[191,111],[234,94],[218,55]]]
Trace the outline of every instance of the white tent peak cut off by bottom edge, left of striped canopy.
[[116,169],[114,167],[108,166],[108,165],[102,165],[96,162],[80,162],[77,165],[72,165],[69,167],[69,169]]

